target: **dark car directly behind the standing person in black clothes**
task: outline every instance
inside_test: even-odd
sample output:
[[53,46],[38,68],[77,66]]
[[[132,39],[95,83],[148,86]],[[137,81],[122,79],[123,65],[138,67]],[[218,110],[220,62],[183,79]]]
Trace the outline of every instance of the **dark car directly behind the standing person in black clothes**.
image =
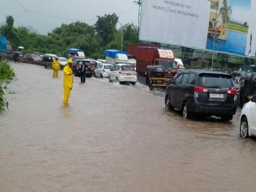
[[80,69],[82,65],[85,66],[85,76],[91,77],[93,76],[94,69],[96,68],[96,62],[88,59],[73,59],[73,74],[74,76],[80,77]]

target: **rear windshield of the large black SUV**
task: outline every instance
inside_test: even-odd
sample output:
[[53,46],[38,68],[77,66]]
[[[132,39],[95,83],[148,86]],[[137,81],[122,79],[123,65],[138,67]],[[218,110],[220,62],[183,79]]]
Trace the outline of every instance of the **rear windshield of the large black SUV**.
[[234,87],[232,77],[225,74],[201,74],[197,84],[207,88]]

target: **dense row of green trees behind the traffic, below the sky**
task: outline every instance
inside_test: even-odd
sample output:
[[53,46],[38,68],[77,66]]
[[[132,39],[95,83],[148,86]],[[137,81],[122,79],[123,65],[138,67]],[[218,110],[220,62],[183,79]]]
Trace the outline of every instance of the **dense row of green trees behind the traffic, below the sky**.
[[137,26],[127,23],[116,29],[118,16],[108,14],[98,16],[94,26],[87,23],[74,22],[62,24],[48,35],[30,32],[26,27],[14,27],[13,16],[7,16],[5,24],[0,26],[0,34],[7,38],[13,50],[24,46],[26,52],[51,53],[67,56],[68,48],[83,49],[87,57],[104,58],[105,49],[123,49],[127,44],[138,42]]

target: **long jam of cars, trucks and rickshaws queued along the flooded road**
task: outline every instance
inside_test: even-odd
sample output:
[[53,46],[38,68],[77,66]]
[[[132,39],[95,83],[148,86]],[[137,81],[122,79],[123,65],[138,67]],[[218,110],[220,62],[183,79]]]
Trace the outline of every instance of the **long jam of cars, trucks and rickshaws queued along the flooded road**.
[[[73,74],[80,77],[107,78],[119,84],[148,85],[149,90],[165,91],[166,110],[179,110],[184,118],[216,116],[230,121],[241,107],[240,136],[256,135],[256,74],[223,73],[218,69],[185,69],[171,49],[158,44],[129,44],[127,51],[108,49],[105,59],[86,59],[81,49],[68,49],[73,59]],[[51,68],[54,54],[13,52],[15,62],[26,62]],[[67,59],[60,57],[60,68]],[[138,79],[137,79],[138,77]]]

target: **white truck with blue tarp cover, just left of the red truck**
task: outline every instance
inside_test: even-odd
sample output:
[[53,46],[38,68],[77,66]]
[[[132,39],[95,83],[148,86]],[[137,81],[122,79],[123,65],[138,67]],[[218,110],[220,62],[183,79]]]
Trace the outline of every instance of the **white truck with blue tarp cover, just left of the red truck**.
[[119,51],[115,49],[108,49],[105,51],[106,63],[116,65],[116,64],[129,64],[132,65],[132,62],[129,61],[126,51]]

